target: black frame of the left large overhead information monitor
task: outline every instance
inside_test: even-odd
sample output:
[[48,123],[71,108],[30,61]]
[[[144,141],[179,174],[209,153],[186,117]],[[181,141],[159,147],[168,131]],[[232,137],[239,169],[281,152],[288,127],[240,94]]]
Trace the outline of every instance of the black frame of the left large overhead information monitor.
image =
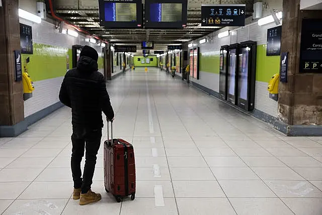
[[[136,22],[114,22],[105,21],[105,3],[136,3]],[[123,29],[123,28],[143,28],[143,4],[142,0],[99,0],[99,19],[100,26],[104,28]]]

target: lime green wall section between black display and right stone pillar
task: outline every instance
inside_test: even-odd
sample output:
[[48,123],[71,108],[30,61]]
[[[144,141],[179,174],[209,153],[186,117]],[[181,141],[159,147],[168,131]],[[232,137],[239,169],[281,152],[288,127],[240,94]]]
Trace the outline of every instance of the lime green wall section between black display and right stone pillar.
[[257,46],[256,81],[269,82],[280,72],[280,56],[266,56],[267,45]]

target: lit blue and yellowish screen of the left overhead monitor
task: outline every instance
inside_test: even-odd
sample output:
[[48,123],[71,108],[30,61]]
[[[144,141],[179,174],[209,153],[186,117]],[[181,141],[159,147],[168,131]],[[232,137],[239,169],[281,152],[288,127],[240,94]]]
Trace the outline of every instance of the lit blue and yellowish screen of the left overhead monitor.
[[136,4],[105,3],[105,21],[136,22]]

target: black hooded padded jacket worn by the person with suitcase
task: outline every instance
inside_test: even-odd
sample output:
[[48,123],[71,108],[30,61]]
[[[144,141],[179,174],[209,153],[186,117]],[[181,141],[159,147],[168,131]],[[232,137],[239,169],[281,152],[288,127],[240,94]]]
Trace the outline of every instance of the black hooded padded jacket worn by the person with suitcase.
[[81,56],[77,67],[70,69],[61,84],[59,100],[71,108],[72,124],[90,128],[103,127],[102,111],[114,118],[110,97],[97,61]]

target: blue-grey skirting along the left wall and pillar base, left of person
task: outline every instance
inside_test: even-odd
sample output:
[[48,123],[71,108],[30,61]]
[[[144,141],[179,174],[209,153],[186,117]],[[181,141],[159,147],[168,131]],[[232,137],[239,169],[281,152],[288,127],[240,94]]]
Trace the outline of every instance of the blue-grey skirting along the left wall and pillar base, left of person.
[[0,137],[15,137],[19,134],[28,130],[28,126],[32,125],[33,123],[39,121],[40,119],[46,117],[50,113],[54,112],[55,110],[61,108],[63,104],[61,102],[57,102],[49,107],[46,107],[30,116],[27,116],[24,121],[19,122],[15,125],[8,126],[8,125],[0,125]]

